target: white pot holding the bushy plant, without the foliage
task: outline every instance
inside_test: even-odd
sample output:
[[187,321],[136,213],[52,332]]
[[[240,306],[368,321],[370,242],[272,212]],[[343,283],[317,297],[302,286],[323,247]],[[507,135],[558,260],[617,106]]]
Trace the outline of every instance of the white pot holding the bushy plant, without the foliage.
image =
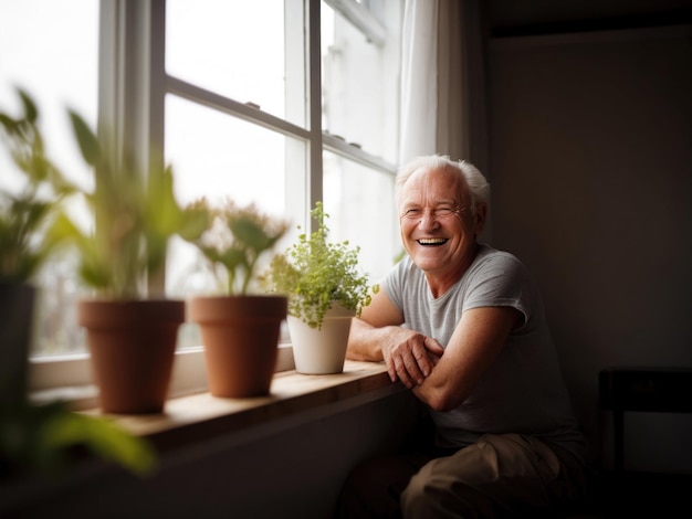
[[332,307],[319,329],[311,328],[297,317],[289,316],[295,370],[304,374],[343,372],[350,321],[355,315],[355,311],[340,305]]

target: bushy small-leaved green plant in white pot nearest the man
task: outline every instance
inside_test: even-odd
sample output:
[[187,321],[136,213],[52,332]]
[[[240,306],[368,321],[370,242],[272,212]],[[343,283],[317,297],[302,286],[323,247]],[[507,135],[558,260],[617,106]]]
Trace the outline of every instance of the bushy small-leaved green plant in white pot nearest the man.
[[287,324],[295,369],[301,373],[340,373],[344,370],[352,318],[370,304],[368,277],[358,268],[359,247],[329,242],[322,202],[311,211],[317,229],[284,254],[275,256],[264,283],[289,295]]

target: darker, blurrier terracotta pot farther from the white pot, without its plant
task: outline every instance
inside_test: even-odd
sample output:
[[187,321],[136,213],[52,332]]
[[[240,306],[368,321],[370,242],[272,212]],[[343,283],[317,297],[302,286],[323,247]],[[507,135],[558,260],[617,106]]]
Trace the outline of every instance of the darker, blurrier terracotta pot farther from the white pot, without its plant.
[[149,414],[164,410],[185,301],[81,300],[98,401],[104,413]]

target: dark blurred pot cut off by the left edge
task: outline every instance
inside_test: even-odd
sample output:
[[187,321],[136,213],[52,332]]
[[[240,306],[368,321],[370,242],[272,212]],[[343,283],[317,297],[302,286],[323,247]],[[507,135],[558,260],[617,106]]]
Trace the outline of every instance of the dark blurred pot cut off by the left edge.
[[0,409],[27,398],[34,296],[32,285],[0,283]]

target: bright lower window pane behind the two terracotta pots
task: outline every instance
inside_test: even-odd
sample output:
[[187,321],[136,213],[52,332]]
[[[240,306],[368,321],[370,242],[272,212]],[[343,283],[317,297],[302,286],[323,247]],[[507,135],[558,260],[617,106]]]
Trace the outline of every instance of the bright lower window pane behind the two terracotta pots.
[[[179,97],[166,102],[166,160],[174,167],[181,203],[206,197],[286,218],[286,147],[304,145]],[[200,271],[195,247],[175,242],[167,265],[167,293],[190,295],[216,288]]]

